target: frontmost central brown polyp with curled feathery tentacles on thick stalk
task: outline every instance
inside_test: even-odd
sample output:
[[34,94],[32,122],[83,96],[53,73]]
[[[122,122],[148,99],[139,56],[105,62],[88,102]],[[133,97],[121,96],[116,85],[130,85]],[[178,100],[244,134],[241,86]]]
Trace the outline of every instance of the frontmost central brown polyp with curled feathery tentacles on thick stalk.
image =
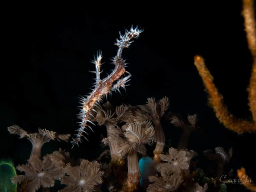
[[118,154],[127,156],[127,186],[129,189],[136,187],[140,180],[140,168],[137,152],[145,155],[145,144],[151,144],[154,140],[155,130],[151,122],[128,123],[124,130],[113,129],[108,132],[108,142],[114,142],[118,146]]

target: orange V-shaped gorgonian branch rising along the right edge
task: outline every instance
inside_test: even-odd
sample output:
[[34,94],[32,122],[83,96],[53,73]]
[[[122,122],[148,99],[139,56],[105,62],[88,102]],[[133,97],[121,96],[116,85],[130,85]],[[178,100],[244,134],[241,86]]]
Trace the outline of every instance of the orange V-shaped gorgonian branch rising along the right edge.
[[213,83],[213,77],[204,64],[204,59],[196,55],[195,66],[204,82],[207,92],[209,93],[209,102],[219,121],[228,129],[238,134],[244,132],[256,133],[256,27],[255,15],[253,11],[253,0],[243,0],[243,16],[245,31],[247,34],[247,42],[249,49],[253,55],[253,67],[250,77],[249,106],[253,116],[253,120],[238,119],[231,114],[227,106],[223,102],[222,95],[218,92],[217,87]]

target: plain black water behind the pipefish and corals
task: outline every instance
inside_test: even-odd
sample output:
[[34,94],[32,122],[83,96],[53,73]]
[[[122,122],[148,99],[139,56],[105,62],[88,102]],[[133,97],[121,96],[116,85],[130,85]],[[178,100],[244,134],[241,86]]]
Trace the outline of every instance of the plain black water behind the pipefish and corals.
[[[198,113],[201,130],[192,134],[189,149],[202,151],[223,146],[233,147],[228,169],[244,166],[254,180],[255,134],[237,135],[218,122],[207,105],[207,93],[193,64],[197,54],[205,58],[215,84],[230,111],[237,117],[251,119],[247,105],[247,85],[252,56],[247,47],[240,1],[207,1],[147,4],[109,10],[97,6],[76,12],[65,10],[12,10],[4,20],[1,64],[0,157],[10,157],[15,165],[26,163],[31,144],[9,134],[7,126],[17,124],[26,131],[38,127],[74,134],[79,120],[79,95],[90,92],[94,70],[90,63],[96,51],[103,53],[103,76],[111,72],[110,58],[119,31],[131,24],[145,31],[125,49],[124,58],[132,74],[127,93],[114,94],[110,101],[140,105],[148,97],[168,96],[169,111]],[[30,60],[29,60],[30,54]],[[167,140],[177,147],[181,131],[163,121]],[[93,160],[103,150],[101,134],[105,128],[89,131],[89,142],[71,151],[73,157]],[[70,143],[50,142],[42,152],[58,147],[70,151]],[[211,162],[208,162],[211,163]],[[207,164],[207,163],[205,163]],[[209,165],[208,165],[209,166]]]

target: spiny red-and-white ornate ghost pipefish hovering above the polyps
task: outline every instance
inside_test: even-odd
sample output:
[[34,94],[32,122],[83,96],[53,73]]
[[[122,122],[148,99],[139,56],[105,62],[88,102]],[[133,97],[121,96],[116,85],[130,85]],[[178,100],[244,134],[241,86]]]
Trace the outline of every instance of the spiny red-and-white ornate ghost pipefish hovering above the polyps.
[[[126,72],[125,70],[125,60],[122,58],[122,51],[124,48],[130,46],[133,42],[131,41],[134,38],[138,38],[140,33],[143,30],[135,29],[131,27],[130,31],[126,30],[125,35],[121,35],[119,39],[116,40],[116,45],[118,46],[117,55],[113,58],[113,63],[115,64],[114,70],[108,75],[105,79],[100,79],[100,66],[102,55],[101,52],[97,55],[95,59],[95,66],[96,66],[96,83],[95,87],[90,93],[89,96],[86,98],[82,97],[81,99],[81,112],[79,113],[79,118],[81,119],[80,128],[77,130],[78,134],[76,134],[76,138],[71,141],[72,145],[79,145],[81,143],[81,137],[84,137],[84,133],[87,134],[85,131],[86,128],[90,128],[88,123],[94,125],[92,121],[92,111],[93,108],[98,108],[98,104],[101,101],[103,96],[107,96],[113,90],[119,90],[120,87],[125,88],[125,83],[128,82],[130,76],[127,76],[123,79],[120,77]],[[119,81],[117,81],[119,80]],[[117,81],[116,84],[113,84],[114,81]],[[84,137],[86,140],[87,138]]]

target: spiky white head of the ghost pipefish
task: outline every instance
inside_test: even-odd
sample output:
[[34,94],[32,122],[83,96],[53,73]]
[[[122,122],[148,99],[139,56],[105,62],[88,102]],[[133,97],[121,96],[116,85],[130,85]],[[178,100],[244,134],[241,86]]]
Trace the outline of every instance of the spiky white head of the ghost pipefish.
[[125,29],[125,35],[122,35],[121,32],[119,32],[120,37],[119,39],[116,39],[115,45],[117,45],[119,48],[127,48],[133,42],[131,40],[134,38],[138,38],[141,32],[143,32],[143,29],[139,29],[138,26],[136,26],[135,28],[131,26],[130,31]]

